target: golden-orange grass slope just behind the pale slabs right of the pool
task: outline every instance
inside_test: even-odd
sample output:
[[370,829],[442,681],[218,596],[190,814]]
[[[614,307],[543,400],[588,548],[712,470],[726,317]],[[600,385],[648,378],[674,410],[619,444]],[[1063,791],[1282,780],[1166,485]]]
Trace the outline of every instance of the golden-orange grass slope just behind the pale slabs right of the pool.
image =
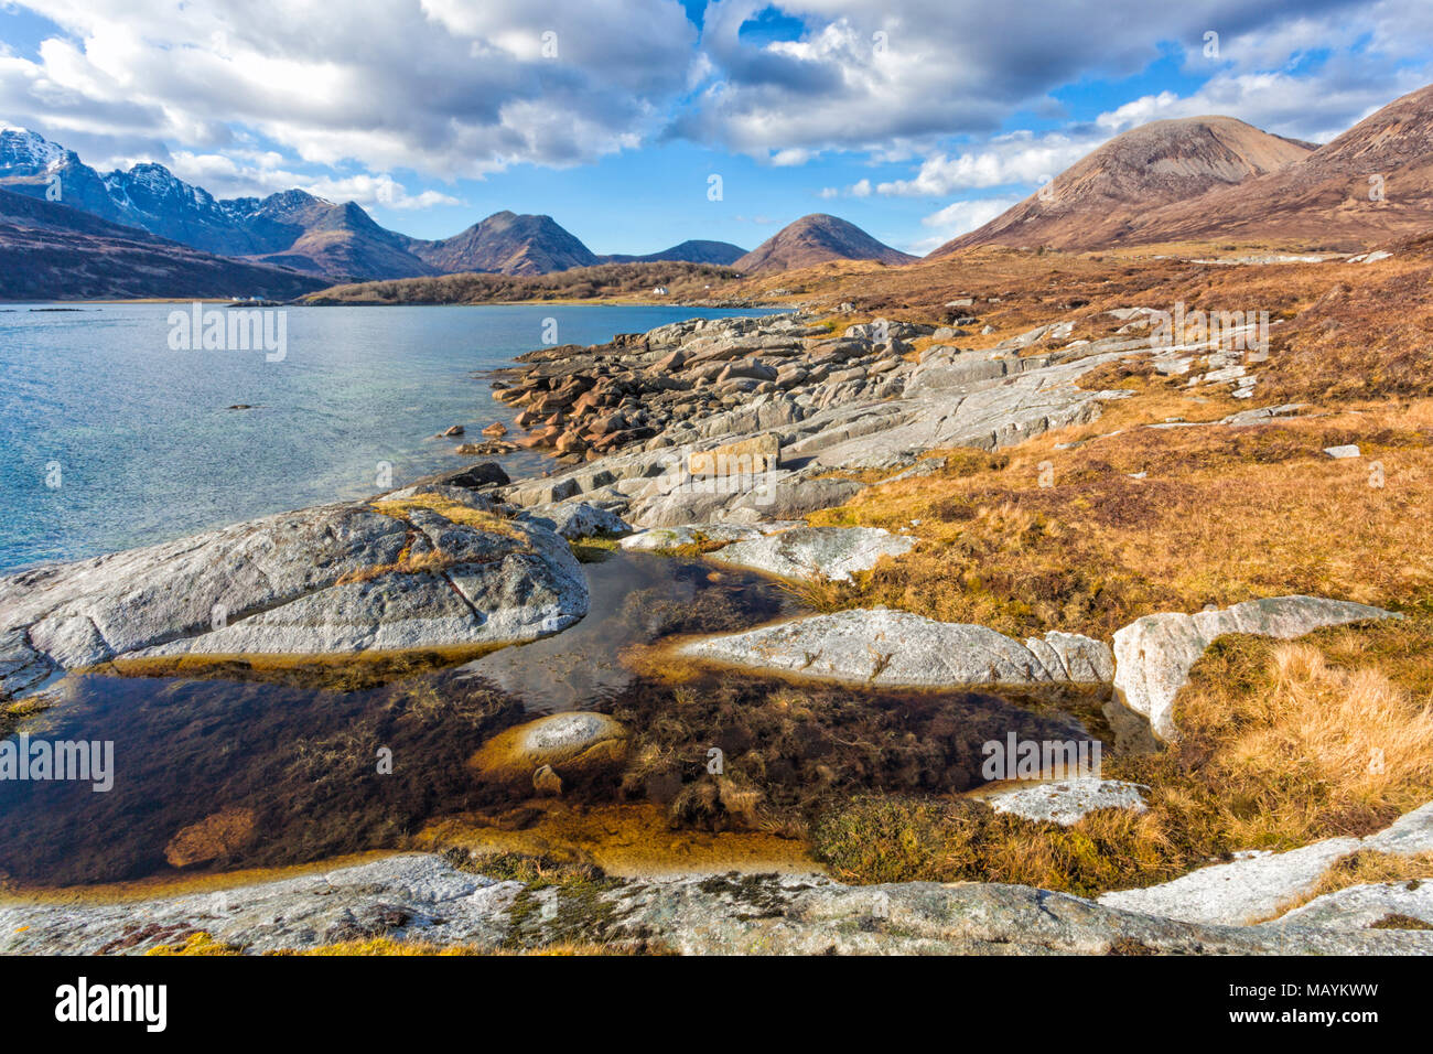
[[[921,539],[853,584],[814,591],[817,607],[881,604],[1009,634],[1109,637],[1155,611],[1280,594],[1433,599],[1433,402],[1257,427],[1142,427],[1225,410],[1154,396],[999,457],[949,452],[941,472],[814,513],[814,525],[907,528]],[[1323,453],[1343,443],[1364,456]]]

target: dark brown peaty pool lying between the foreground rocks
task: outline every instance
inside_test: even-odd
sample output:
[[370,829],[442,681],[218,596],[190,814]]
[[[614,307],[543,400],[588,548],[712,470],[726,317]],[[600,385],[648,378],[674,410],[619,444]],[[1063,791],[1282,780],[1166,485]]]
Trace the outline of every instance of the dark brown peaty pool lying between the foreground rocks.
[[[598,708],[633,736],[623,769],[572,787],[566,804],[641,800],[709,830],[739,826],[731,780],[777,812],[863,789],[950,793],[979,782],[980,743],[1009,730],[1109,733],[1091,693],[1023,700],[1030,710],[980,693],[722,671],[672,681],[626,668],[619,655],[632,645],[795,612],[770,581],[701,561],[616,552],[588,571],[592,612],[582,622],[466,665],[443,668],[460,660],[440,655],[438,668],[380,665],[357,678],[340,670],[327,681],[321,667],[295,677],[291,665],[67,678],[60,703],[27,731],[112,740],[115,787],[0,782],[0,872],[17,885],[115,882],[404,848],[427,822],[457,813],[522,825],[533,812],[527,792],[481,784],[466,763],[532,711]],[[397,680],[380,683],[374,670]],[[724,751],[728,784],[709,774],[712,747]]]

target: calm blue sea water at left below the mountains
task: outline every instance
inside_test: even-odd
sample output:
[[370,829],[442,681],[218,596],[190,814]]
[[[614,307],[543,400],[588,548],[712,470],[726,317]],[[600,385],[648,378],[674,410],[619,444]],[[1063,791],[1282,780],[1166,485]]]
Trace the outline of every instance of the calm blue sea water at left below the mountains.
[[[474,374],[545,343],[592,344],[685,307],[287,308],[287,356],[179,350],[181,305],[0,310],[0,571],[178,538],[393,486],[471,459],[512,414]],[[254,409],[231,410],[246,403]],[[509,473],[545,457],[496,459]]]

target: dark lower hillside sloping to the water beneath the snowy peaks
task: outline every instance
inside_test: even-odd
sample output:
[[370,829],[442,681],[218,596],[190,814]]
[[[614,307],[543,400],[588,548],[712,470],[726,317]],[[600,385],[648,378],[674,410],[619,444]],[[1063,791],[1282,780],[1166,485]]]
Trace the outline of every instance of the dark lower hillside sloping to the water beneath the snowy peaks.
[[66,205],[0,189],[0,298],[255,295],[291,300],[322,283],[216,257]]

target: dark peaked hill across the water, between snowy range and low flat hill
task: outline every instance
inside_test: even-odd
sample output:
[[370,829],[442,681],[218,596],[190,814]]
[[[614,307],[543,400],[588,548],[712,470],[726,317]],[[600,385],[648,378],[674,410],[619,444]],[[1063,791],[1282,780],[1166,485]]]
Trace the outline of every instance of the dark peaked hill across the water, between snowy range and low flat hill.
[[437,271],[547,274],[598,262],[586,245],[552,217],[494,212],[461,234],[441,241],[408,238],[410,251]]

